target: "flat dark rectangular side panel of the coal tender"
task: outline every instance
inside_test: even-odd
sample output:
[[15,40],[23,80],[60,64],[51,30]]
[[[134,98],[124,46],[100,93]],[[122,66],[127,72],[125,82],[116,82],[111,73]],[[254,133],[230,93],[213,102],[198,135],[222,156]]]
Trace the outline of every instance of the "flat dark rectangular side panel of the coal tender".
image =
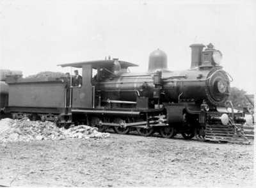
[[65,107],[63,82],[17,82],[9,92],[9,106]]

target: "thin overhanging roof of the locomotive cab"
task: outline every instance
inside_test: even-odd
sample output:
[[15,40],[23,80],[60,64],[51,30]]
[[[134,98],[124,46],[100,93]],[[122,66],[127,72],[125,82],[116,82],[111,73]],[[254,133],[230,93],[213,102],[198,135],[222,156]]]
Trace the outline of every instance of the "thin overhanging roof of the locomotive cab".
[[[96,61],[82,61],[82,62],[77,62],[77,63],[66,63],[66,64],[60,64],[58,66],[83,68],[83,65],[92,64],[92,68],[97,69],[98,67],[100,67],[100,68],[109,67],[109,66],[113,65],[114,62],[115,62],[115,60],[96,60]],[[121,68],[138,67],[138,65],[136,65],[134,63],[129,63],[126,61],[119,61],[119,63],[121,65]]]

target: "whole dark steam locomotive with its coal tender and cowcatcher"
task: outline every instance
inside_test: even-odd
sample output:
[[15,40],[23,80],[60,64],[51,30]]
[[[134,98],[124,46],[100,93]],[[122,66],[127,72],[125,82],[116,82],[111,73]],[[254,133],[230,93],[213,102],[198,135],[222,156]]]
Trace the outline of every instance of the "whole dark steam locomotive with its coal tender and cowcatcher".
[[170,138],[180,133],[200,141],[239,134],[246,139],[239,132],[246,118],[227,101],[232,77],[220,65],[221,52],[211,43],[190,47],[188,70],[168,70],[166,53],[157,49],[149,56],[147,72],[139,74],[129,72],[138,65],[118,59],[60,65],[82,69],[81,87],[69,84],[67,77],[10,77],[4,113],[65,126],[86,123],[118,134],[136,130],[141,136],[159,132]]

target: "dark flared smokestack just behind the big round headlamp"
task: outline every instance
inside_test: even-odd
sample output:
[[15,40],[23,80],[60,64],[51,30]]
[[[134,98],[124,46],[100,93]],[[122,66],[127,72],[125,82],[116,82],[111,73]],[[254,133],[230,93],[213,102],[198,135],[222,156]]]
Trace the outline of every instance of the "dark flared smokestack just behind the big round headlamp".
[[202,64],[202,51],[205,47],[202,43],[193,43],[189,45],[191,47],[191,67],[199,67]]

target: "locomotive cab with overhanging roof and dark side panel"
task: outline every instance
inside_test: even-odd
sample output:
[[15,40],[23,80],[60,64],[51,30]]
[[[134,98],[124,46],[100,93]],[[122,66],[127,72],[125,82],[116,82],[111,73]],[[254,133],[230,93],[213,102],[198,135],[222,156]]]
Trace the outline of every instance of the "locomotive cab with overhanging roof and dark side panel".
[[[97,100],[97,106],[100,106],[100,95],[97,95],[100,91],[97,91],[97,83],[104,82],[106,79],[112,80],[120,77],[120,75],[126,74],[129,71],[128,67],[136,67],[138,65],[112,59],[68,63],[60,66],[82,68],[83,85],[81,88],[72,87],[70,107],[94,109],[95,100]],[[97,70],[95,75],[93,75],[93,70]]]

